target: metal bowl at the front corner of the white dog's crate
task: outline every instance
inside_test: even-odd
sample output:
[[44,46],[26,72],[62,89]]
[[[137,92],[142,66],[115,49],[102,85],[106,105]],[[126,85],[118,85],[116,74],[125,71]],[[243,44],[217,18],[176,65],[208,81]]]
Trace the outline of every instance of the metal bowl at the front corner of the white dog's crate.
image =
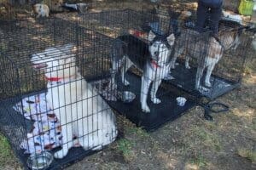
[[53,156],[48,151],[42,151],[39,154],[32,154],[28,157],[26,163],[32,170],[46,169],[53,161]]

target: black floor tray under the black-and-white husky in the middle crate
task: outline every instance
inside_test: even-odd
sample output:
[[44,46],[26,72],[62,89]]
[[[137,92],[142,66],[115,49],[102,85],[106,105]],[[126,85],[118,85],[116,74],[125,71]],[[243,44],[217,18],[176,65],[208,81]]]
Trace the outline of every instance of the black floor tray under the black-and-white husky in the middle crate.
[[118,88],[122,89],[122,91],[131,91],[136,94],[136,99],[131,103],[124,103],[122,100],[118,99],[117,101],[109,101],[108,104],[120,114],[125,115],[131,122],[134,122],[139,127],[143,127],[147,131],[154,131],[166,122],[175,120],[196,105],[195,101],[187,99],[184,106],[178,106],[176,101],[178,94],[174,94],[170,90],[161,88],[160,86],[156,96],[161,99],[161,103],[155,105],[148,98],[147,103],[150,113],[145,113],[141,109],[139,99],[141,77],[128,71],[126,73],[126,79],[130,82],[130,85],[125,87],[121,82],[118,82]]

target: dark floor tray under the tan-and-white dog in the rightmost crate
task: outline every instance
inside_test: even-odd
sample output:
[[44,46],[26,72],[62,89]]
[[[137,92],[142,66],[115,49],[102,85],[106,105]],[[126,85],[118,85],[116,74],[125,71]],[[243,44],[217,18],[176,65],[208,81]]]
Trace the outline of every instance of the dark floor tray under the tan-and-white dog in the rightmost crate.
[[[205,74],[206,72],[204,72],[204,75],[201,78],[201,85],[204,85]],[[208,99],[217,99],[219,96],[226,94],[239,86],[239,82],[231,82],[222,77],[212,75],[210,79],[212,87],[207,88],[206,91],[200,93],[195,90],[196,68],[191,67],[190,69],[186,69],[182,62],[179,62],[179,65],[176,65],[175,69],[172,69],[171,75],[174,79],[167,81],[167,83],[171,83],[177,88],[182,88],[189,94],[195,95],[195,97],[203,96]]]

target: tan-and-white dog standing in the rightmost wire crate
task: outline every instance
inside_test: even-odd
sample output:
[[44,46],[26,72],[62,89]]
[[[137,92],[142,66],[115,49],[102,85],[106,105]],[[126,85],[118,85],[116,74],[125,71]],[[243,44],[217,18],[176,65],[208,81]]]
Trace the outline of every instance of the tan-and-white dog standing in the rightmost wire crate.
[[218,32],[219,39],[216,39],[215,37],[202,37],[196,31],[184,29],[181,36],[177,38],[175,54],[172,58],[172,69],[175,68],[176,59],[180,54],[185,53],[186,55],[185,67],[187,69],[190,69],[189,58],[196,58],[198,66],[195,77],[195,89],[200,92],[207,91],[207,88],[201,86],[203,72],[207,69],[205,85],[208,88],[212,87],[210,78],[215,65],[222,58],[225,50],[237,48],[240,44],[239,34],[237,29],[220,29]]

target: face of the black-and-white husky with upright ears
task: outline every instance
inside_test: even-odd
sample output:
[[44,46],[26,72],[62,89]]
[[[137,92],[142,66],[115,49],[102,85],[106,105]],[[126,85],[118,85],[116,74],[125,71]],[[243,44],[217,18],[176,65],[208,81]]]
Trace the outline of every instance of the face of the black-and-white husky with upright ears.
[[157,63],[166,63],[169,58],[172,46],[175,41],[175,37],[171,34],[168,37],[158,37],[152,31],[148,34],[149,53],[151,59],[154,59]]

